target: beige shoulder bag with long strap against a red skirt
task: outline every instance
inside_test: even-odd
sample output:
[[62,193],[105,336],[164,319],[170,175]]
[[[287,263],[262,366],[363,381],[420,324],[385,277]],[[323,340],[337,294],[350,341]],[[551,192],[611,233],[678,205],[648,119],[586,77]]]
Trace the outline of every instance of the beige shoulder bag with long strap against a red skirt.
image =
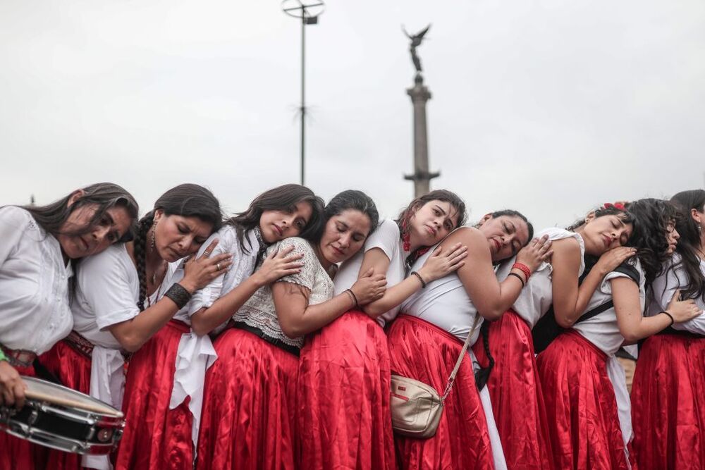
[[462,345],[458,361],[455,361],[453,372],[448,377],[446,390],[443,396],[439,396],[436,389],[413,378],[392,374],[392,395],[390,407],[392,410],[392,428],[394,432],[410,438],[428,439],[436,434],[436,429],[441,421],[443,413],[443,402],[453,388],[455,375],[460,369],[462,358],[465,357],[467,346],[470,345],[470,338],[477,329],[479,314],[475,314],[470,333]]

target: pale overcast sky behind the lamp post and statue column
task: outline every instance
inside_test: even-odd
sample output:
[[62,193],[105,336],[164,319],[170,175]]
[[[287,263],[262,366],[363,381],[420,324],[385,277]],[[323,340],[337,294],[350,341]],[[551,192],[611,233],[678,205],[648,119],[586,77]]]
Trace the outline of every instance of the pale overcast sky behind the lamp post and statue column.
[[[381,214],[412,197],[408,39],[432,188],[470,220],[567,225],[705,178],[702,0],[328,1],[307,27],[307,180]],[[298,183],[300,23],[279,1],[0,0],[0,204],[102,180],[142,211],[178,183],[228,211]]]

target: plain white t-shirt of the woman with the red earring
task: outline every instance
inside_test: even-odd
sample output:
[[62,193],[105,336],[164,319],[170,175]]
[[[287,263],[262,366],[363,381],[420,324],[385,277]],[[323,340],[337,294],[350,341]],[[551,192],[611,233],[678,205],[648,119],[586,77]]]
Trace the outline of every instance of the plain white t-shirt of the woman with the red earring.
[[[348,261],[345,261],[341,268],[338,269],[338,273],[334,279],[336,285],[335,295],[344,292],[346,289],[350,289],[350,287],[355,284],[357,277],[360,276],[360,268],[362,267],[364,254],[373,248],[381,249],[389,259],[389,267],[386,272],[387,288],[397,285],[404,280],[404,250],[399,233],[399,226],[395,221],[386,219],[381,221],[376,230],[367,237],[367,240],[364,242],[364,249],[360,250],[359,253],[355,254],[355,256]],[[400,307],[401,306],[398,305],[377,318],[382,328],[384,328],[386,323],[392,321],[397,316]]]

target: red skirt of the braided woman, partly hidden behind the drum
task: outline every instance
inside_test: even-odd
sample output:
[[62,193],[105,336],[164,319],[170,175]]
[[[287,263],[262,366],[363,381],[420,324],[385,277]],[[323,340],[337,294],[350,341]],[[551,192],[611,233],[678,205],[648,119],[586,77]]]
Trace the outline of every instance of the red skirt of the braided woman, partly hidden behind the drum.
[[[49,372],[59,378],[64,386],[86,394],[90,392],[91,361],[74,350],[65,340],[57,342],[51,350],[42,354],[39,361]],[[61,450],[49,450],[48,454],[52,469],[81,468],[80,454],[61,452]]]

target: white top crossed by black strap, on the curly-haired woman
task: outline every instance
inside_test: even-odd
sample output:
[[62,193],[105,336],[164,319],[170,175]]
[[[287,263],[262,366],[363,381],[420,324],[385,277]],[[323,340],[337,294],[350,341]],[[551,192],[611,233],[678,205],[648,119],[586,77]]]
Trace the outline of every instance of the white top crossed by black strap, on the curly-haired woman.
[[[637,268],[639,272],[639,304],[641,305],[642,311],[644,311],[644,304],[646,299],[646,288],[644,283],[644,270],[642,269],[642,264],[636,257],[628,261],[632,266]],[[600,287],[595,291],[595,293],[590,298],[585,311],[590,311],[596,307],[599,307],[605,302],[609,302],[612,299],[612,283],[611,280],[616,278],[629,278],[626,274],[619,273],[618,271],[612,271],[602,280]],[[612,307],[606,311],[601,312],[593,316],[591,319],[581,321],[580,323],[575,323],[572,327],[578,333],[580,333],[589,342],[596,345],[608,356],[613,356],[620,346],[624,342],[624,337],[620,333],[619,326],[617,324],[617,314],[615,314],[615,309]]]

